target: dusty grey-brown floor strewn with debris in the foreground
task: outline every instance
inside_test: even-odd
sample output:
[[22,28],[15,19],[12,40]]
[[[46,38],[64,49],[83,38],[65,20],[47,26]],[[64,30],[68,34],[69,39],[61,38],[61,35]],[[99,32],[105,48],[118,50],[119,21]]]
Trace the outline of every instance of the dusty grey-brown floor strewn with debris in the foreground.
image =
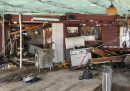
[[[11,73],[11,71],[9,71]],[[0,72],[0,91],[95,91],[101,85],[101,71],[93,71],[91,80],[78,80],[83,70],[68,69],[44,73],[38,76],[42,80],[27,84],[22,81],[1,81],[6,72]],[[113,83],[130,87],[130,72],[113,72]]]

